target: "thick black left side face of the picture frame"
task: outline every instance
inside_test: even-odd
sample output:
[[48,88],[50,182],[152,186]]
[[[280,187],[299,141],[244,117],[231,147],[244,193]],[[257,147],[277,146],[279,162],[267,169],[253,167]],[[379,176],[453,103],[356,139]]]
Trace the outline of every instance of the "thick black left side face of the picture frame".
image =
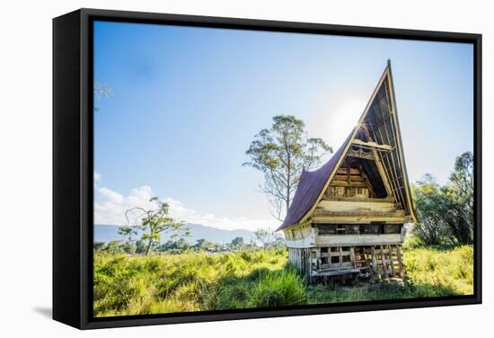
[[80,10],[53,19],[53,319],[81,327]]

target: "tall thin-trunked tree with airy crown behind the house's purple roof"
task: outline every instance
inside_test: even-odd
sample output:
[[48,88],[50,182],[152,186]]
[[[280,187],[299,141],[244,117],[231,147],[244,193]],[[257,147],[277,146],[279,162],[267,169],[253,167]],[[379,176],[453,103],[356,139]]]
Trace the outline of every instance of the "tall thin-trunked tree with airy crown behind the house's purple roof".
[[320,165],[321,158],[332,153],[322,138],[308,138],[304,121],[292,115],[273,117],[269,129],[260,130],[245,152],[251,157],[251,166],[264,174],[260,190],[268,196],[274,217],[282,219],[287,211],[304,170]]

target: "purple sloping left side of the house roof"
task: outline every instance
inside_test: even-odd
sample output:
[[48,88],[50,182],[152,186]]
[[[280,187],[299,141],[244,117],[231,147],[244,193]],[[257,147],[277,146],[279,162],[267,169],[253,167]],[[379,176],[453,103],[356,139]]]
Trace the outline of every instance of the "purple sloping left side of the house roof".
[[284,229],[291,225],[296,224],[304,215],[311,209],[315,200],[322,191],[324,184],[328,181],[331,173],[333,172],[338,159],[340,158],[343,150],[347,146],[348,140],[351,138],[353,130],[348,135],[348,138],[343,142],[340,149],[331,159],[321,168],[314,170],[313,172],[303,172],[300,175],[300,181],[298,182],[298,187],[296,188],[294,199],[288,208],[287,216],[283,221],[283,224],[278,227],[278,230]]

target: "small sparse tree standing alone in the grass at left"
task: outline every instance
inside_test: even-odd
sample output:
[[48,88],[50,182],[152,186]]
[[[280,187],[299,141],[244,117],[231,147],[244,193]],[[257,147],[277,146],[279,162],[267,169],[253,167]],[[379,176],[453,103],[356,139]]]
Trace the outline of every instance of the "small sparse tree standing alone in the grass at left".
[[[153,197],[152,202],[157,202],[157,209],[144,209],[140,207],[128,209],[125,212],[125,217],[128,220],[128,214],[132,212],[139,212],[137,223],[134,227],[123,226],[119,227],[119,233],[131,238],[133,235],[137,235],[137,230],[142,231],[141,241],[146,242],[145,254],[148,255],[151,252],[153,245],[158,245],[161,240],[161,234],[163,232],[172,233],[172,238],[177,236],[189,236],[189,227],[185,226],[185,222],[176,221],[171,218],[169,213],[169,205],[166,202],[158,202],[157,197]],[[128,221],[129,224],[129,221]],[[138,246],[137,246],[138,250]]]

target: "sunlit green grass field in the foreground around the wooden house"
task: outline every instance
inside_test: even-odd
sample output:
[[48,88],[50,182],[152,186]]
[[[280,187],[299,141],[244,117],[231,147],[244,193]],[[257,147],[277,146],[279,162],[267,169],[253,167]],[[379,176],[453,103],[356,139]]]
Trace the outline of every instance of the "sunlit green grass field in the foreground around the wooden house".
[[230,254],[94,254],[94,315],[443,297],[473,292],[473,248],[406,247],[407,280],[330,289],[307,286],[283,250]]

